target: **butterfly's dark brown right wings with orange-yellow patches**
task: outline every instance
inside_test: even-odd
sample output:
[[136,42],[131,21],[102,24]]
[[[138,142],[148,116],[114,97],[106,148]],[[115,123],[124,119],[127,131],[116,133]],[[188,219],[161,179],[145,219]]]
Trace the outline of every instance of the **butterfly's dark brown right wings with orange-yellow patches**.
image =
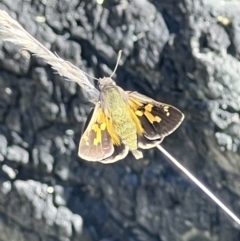
[[148,149],[158,145],[184,119],[183,113],[171,105],[157,102],[138,92],[127,93],[129,105],[144,129],[144,134],[138,137],[140,148]]

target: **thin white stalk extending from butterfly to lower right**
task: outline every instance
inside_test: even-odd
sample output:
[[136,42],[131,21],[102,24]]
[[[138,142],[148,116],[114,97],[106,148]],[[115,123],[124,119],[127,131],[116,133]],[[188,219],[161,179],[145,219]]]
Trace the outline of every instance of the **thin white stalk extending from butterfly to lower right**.
[[199,188],[201,188],[224,212],[226,212],[235,222],[240,225],[240,219],[217,198],[206,186],[204,186],[196,177],[194,177],[183,165],[181,165],[171,154],[169,154],[162,146],[157,148],[174,163],[185,175],[187,175]]

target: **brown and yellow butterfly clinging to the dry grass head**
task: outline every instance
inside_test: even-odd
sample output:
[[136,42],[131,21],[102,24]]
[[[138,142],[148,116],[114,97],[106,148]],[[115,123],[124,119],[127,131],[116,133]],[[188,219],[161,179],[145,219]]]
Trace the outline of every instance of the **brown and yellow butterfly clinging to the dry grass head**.
[[184,114],[135,91],[124,91],[111,77],[98,79],[99,100],[90,111],[78,155],[87,161],[113,163],[139,149],[161,143],[181,124]]

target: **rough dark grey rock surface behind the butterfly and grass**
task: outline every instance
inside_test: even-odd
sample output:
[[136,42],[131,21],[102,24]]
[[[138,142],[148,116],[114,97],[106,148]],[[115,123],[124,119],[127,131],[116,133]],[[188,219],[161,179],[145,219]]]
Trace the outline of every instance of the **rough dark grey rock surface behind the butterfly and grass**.
[[[240,1],[1,0],[46,47],[186,115],[163,146],[240,215]],[[237,241],[240,229],[157,150],[77,157],[90,105],[0,43],[0,239]]]

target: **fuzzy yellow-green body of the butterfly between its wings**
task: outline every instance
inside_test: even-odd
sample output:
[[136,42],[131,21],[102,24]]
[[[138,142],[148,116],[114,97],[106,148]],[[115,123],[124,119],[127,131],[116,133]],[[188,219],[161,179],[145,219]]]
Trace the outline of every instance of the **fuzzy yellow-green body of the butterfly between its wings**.
[[125,92],[115,84],[107,84],[102,86],[100,102],[103,112],[109,120],[110,135],[114,130],[121,142],[130,150],[136,150],[137,130],[126,102]]

